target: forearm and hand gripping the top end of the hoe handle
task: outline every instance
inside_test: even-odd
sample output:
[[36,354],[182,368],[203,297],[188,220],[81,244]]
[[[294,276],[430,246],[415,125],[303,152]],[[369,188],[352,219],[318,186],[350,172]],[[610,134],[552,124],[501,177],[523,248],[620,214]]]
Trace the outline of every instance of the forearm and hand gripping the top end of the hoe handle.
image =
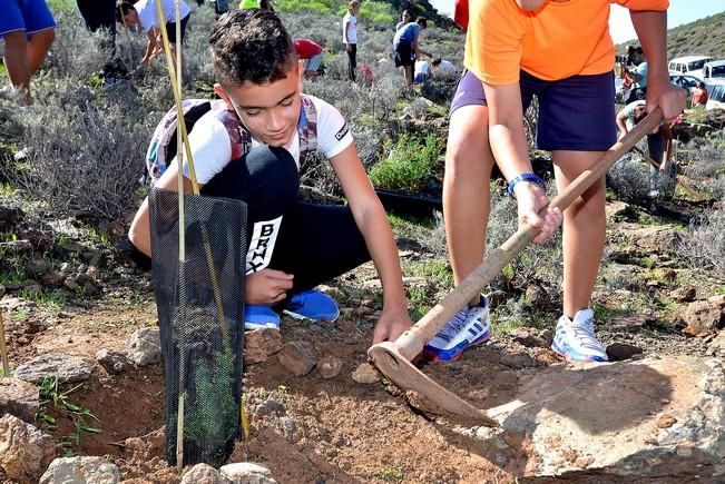
[[685,90],[669,82],[667,70],[667,12],[630,10],[631,23],[647,59],[647,112],[660,107],[665,119],[685,109]]

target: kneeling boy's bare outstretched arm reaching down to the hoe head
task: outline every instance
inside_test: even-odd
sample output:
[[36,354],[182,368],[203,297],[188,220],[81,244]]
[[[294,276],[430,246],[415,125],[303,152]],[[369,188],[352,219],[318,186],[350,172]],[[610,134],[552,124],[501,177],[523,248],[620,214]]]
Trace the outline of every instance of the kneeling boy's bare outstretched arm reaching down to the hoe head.
[[394,340],[410,328],[398,247],[385,210],[360,161],[354,144],[330,159],[383,286],[383,314],[373,344]]

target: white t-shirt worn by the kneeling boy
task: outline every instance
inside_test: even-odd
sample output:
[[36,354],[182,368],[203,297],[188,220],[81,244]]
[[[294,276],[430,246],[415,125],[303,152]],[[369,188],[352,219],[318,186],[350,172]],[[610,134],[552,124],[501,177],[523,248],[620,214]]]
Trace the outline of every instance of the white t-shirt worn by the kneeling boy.
[[[352,145],[352,134],[340,111],[326,101],[314,96],[312,99],[317,110],[317,152],[330,159]],[[300,109],[303,109],[302,107]],[[262,144],[252,138],[252,148]],[[232,161],[232,141],[224,124],[214,111],[202,116],[189,132],[189,148],[194,157],[194,168],[199,184],[207,184]],[[300,169],[300,132],[295,130],[292,141],[285,149],[290,151]],[[187,161],[184,161],[184,175],[189,177]]]

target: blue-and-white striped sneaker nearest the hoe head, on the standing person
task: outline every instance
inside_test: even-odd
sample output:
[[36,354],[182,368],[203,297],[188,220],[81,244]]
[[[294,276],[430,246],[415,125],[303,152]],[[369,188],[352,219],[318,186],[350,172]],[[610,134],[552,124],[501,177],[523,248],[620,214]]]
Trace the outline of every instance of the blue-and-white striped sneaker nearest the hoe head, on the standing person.
[[477,306],[464,307],[423,346],[423,356],[432,362],[454,362],[466,348],[486,343],[491,337],[489,303],[481,295]]

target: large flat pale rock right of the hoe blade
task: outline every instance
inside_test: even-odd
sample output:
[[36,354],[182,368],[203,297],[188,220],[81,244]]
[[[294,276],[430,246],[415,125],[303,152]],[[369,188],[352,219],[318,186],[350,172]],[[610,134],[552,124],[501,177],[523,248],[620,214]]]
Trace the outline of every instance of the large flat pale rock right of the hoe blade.
[[725,482],[719,358],[555,366],[519,372],[518,383],[488,411],[502,428],[479,437],[528,482]]

